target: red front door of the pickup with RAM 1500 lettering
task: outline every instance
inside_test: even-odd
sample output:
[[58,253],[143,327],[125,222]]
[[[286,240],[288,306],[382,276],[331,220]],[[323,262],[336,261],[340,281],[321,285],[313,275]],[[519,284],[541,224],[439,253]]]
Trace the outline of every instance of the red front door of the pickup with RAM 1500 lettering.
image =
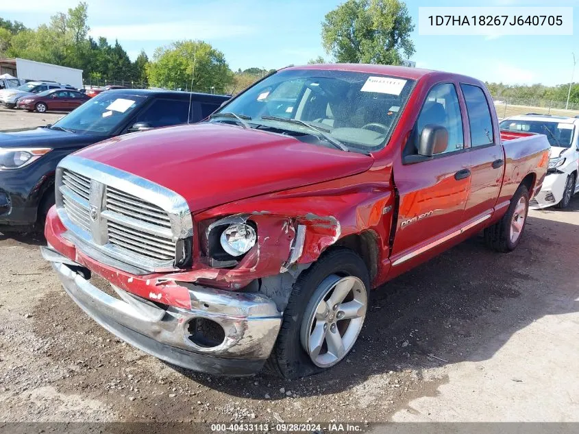
[[[434,256],[437,246],[450,241],[463,224],[470,186],[463,117],[455,83],[430,88],[404,147],[402,162],[393,169],[399,193],[391,252],[393,274]],[[446,128],[447,149],[426,160],[406,158],[417,155],[420,133],[426,125]]]

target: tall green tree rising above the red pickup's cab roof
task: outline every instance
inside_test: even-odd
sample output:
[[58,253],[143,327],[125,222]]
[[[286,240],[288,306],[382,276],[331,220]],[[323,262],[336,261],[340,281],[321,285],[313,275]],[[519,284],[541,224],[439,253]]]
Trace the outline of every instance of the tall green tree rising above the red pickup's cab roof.
[[336,62],[401,64],[415,52],[414,30],[400,0],[347,0],[328,12],[322,43]]

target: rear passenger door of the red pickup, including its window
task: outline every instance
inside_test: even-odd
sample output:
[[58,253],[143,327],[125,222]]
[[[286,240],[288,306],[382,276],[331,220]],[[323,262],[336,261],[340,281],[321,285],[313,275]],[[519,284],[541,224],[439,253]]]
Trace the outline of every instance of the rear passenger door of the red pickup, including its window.
[[465,221],[492,213],[501,189],[504,154],[486,93],[475,84],[460,84],[468,114],[471,154],[471,189],[465,208]]

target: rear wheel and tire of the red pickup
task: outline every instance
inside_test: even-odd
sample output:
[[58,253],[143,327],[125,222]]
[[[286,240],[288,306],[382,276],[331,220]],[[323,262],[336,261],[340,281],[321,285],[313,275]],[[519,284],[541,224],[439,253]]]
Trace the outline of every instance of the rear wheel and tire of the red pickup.
[[[529,191],[526,186],[519,185],[519,188],[510,200],[506,214],[500,221],[497,221],[493,226],[484,230],[484,241],[497,252],[505,253],[515,250],[523,237],[528,212]],[[516,225],[514,221],[515,215],[517,216],[518,225]],[[519,226],[518,232],[515,231],[514,224],[515,226]],[[518,234],[516,237],[513,235],[514,232]]]

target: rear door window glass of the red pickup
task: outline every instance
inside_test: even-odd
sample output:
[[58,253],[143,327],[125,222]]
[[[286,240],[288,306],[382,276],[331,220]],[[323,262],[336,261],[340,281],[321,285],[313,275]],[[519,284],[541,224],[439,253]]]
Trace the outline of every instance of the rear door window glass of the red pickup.
[[484,92],[480,87],[471,84],[461,84],[460,88],[463,89],[467,103],[469,125],[471,126],[471,145],[476,147],[493,143],[493,121]]

